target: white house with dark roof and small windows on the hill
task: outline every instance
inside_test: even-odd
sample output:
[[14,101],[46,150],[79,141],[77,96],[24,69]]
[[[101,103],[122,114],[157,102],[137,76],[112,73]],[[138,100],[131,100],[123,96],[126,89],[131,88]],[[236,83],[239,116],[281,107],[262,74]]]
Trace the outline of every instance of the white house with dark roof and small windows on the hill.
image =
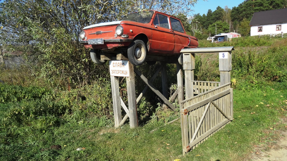
[[250,36],[287,33],[287,8],[255,12],[249,25]]

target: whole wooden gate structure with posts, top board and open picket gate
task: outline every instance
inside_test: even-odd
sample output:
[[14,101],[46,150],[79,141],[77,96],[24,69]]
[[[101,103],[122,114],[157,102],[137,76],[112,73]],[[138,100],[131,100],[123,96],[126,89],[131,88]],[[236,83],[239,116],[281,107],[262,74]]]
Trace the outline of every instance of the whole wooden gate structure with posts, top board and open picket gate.
[[[230,87],[233,47],[183,49],[185,96],[181,101],[183,155],[207,140],[233,119]],[[220,82],[195,81],[195,53],[219,52]]]

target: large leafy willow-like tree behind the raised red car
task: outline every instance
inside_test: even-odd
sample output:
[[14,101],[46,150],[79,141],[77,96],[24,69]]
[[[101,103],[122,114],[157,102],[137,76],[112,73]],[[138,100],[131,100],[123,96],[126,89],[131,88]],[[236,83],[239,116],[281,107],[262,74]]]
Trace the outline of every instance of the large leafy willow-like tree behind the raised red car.
[[[108,66],[91,63],[79,43],[83,27],[121,19],[144,9],[169,14],[191,11],[197,0],[5,0],[0,3],[0,44],[33,55],[42,76],[87,84],[106,76]],[[108,78],[108,77],[107,77]]]

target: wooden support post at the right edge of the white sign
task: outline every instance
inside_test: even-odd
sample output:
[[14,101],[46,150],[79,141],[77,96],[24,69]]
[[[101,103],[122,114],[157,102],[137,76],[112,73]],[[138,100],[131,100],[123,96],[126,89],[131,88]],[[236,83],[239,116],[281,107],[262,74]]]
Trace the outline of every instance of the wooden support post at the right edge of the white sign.
[[133,64],[129,63],[129,77],[126,77],[127,80],[127,98],[129,103],[129,125],[131,128],[138,127],[137,120],[137,103],[135,97],[135,73],[133,71]]

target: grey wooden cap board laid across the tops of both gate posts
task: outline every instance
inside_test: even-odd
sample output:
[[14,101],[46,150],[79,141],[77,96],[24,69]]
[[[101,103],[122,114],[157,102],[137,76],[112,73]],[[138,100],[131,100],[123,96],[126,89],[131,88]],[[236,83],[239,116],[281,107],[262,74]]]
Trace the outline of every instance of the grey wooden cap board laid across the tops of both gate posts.
[[212,47],[212,48],[188,48],[181,49],[182,53],[209,53],[209,52],[229,52],[234,50],[233,46],[230,47]]

